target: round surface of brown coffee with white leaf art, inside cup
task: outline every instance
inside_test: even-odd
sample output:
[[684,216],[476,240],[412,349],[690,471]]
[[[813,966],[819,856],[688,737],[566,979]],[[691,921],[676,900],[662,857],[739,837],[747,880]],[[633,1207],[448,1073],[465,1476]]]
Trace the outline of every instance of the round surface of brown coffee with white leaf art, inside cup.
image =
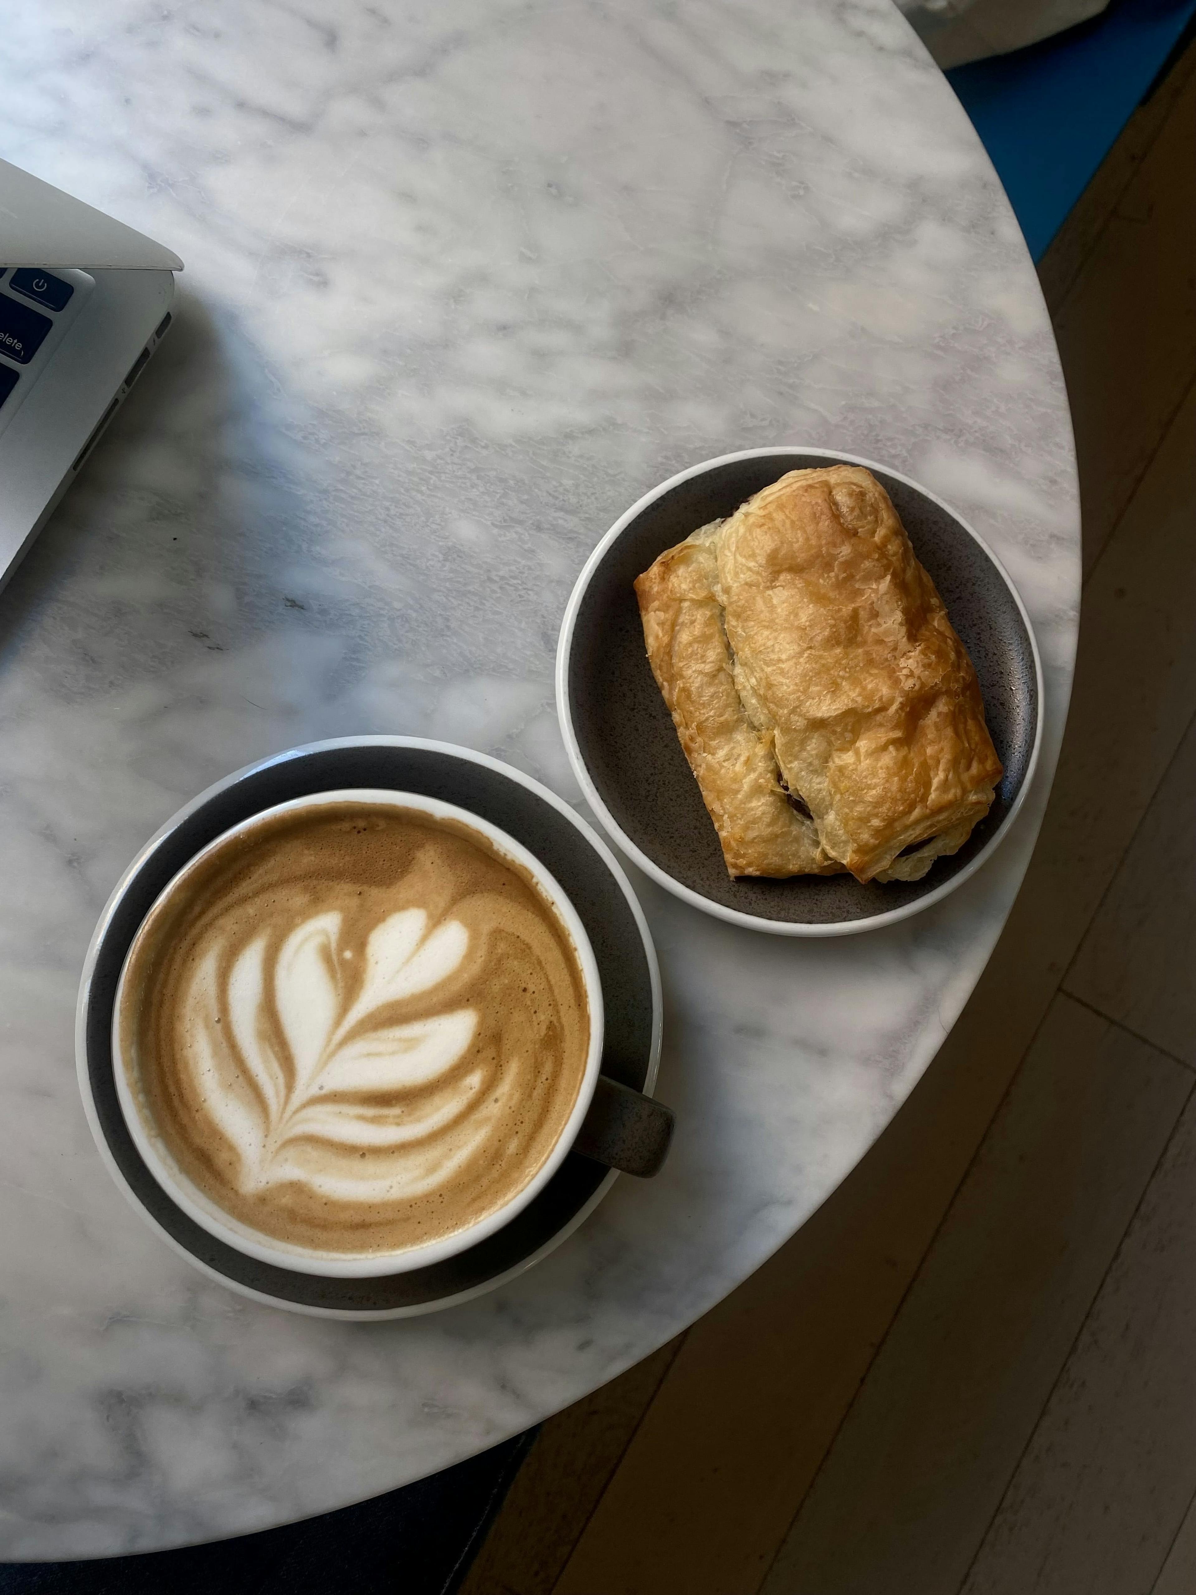
[[512,1201],[590,1046],[572,939],[478,831],[376,802],[273,815],[167,890],[118,1016],[142,1123],[231,1219],[405,1250]]

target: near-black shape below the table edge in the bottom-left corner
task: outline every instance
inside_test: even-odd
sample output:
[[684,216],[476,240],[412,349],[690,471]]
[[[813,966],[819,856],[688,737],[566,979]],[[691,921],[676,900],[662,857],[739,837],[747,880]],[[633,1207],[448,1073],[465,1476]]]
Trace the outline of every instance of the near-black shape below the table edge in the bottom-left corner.
[[340,1512],[187,1550],[0,1565],[0,1595],[451,1595],[536,1429]]

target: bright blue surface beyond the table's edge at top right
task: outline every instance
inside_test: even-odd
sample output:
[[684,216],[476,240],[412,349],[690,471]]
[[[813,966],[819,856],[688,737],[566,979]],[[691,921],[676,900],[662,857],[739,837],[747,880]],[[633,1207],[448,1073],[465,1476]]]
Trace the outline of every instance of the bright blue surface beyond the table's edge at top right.
[[1196,0],[1115,0],[1041,45],[947,72],[1035,260],[1193,16]]

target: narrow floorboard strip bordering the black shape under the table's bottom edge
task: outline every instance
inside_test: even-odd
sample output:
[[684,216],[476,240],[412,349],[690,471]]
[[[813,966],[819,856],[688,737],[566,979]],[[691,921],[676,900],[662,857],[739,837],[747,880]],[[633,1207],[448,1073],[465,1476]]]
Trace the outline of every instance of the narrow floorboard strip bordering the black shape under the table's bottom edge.
[[679,1345],[549,1418],[458,1595],[549,1595]]

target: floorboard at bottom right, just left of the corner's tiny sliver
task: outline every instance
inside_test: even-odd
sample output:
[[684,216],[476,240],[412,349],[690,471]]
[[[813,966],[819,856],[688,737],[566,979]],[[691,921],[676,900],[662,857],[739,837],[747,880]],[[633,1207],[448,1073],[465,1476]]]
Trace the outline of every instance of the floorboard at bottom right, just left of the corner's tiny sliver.
[[966,1595],[1151,1589],[1196,1488],[1194,1255],[1196,1102],[1147,1188]]

